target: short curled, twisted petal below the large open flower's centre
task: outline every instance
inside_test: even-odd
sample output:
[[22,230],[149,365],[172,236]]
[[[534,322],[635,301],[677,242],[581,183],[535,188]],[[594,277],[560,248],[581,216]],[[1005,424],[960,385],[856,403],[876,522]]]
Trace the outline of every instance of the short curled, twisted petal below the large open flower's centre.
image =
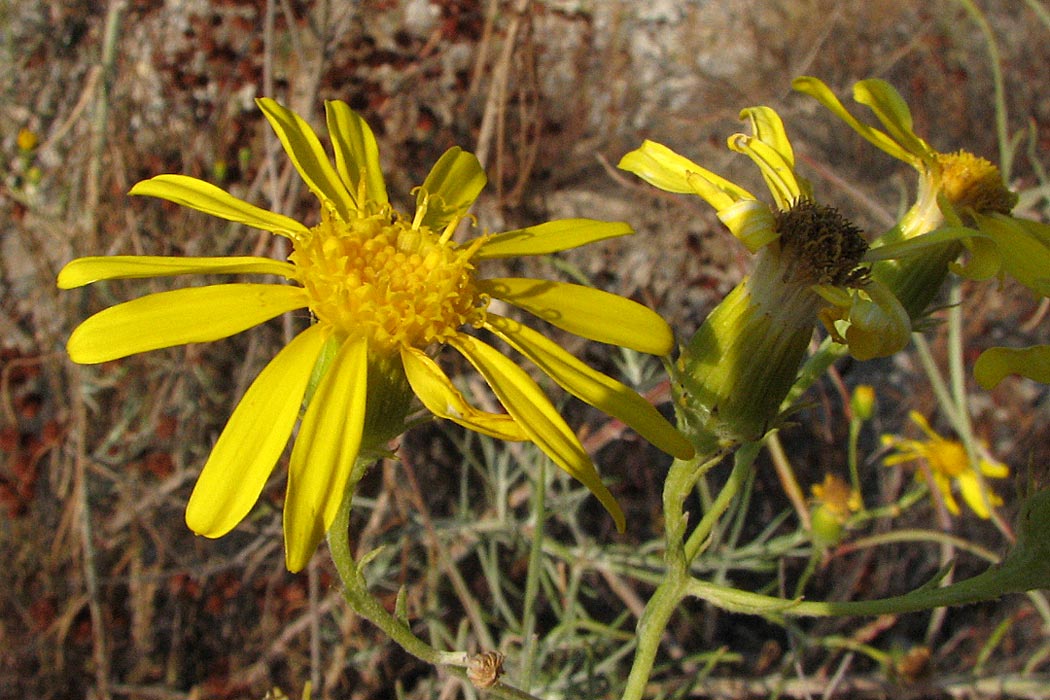
[[506,413],[489,413],[475,408],[466,398],[453,386],[447,375],[426,353],[415,347],[401,348],[401,362],[412,390],[423,402],[426,409],[438,418],[443,418],[463,427],[511,442],[528,440],[513,418]]

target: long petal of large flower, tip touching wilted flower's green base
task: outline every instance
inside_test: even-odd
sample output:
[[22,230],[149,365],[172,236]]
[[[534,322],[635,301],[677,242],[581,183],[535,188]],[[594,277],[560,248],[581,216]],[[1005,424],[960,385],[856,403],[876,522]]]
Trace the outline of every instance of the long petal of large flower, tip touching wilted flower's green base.
[[485,326],[527,357],[566,391],[637,430],[679,460],[693,457],[692,443],[652,404],[616,380],[591,369],[541,333],[509,318],[488,314]]

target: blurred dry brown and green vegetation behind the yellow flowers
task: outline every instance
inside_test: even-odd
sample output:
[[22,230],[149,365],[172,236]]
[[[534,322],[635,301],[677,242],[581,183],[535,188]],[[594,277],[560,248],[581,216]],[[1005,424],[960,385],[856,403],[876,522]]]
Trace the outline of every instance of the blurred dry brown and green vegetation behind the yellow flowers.
[[[857,80],[888,80],[934,148],[993,162],[1009,153],[1020,213],[1047,220],[1050,15],[1042,0],[976,6],[981,14],[963,0],[0,0],[0,698],[262,698],[275,686],[297,697],[307,682],[326,698],[476,695],[349,614],[326,557],[304,574],[285,571],[279,469],[234,533],[207,540],[186,529],[193,481],[279,346],[280,321],[100,366],[64,356],[64,339],[89,313],[186,283],[60,294],[56,273],[72,257],[279,254],[269,234],[127,197],[139,179],[195,175],[313,215],[253,98],[274,97],[318,126],[323,100],[349,102],[376,130],[402,204],[460,145],[489,172],[475,210],[487,230],[565,216],[630,221],[630,239],[516,264],[636,298],[688,337],[746,274],[748,256],[697,199],[615,171],[643,139],[761,192],[724,139],[740,128],[741,108],[765,104],[784,116],[821,199],[866,231],[886,228],[912,194],[905,166],[791,92],[798,75],[843,96]],[[968,288],[968,359],[993,344],[1050,342],[1045,313],[1012,283]],[[928,338],[941,352],[942,333]],[[666,400],[654,360],[571,349]],[[844,474],[843,406],[858,383],[874,384],[879,402],[861,432],[862,475],[867,493],[892,503],[911,473],[880,465],[879,434],[907,432],[909,409],[936,415],[909,353],[840,366],[782,441],[803,487]],[[1018,490],[1045,480],[1050,464],[1047,388],[974,387],[971,407],[979,436],[1016,474],[996,485],[1009,521]],[[417,632],[436,645],[499,649],[509,678],[529,674],[541,697],[615,698],[651,591],[646,572],[658,567],[668,458],[576,403],[565,411],[628,512],[625,535],[531,450],[428,425],[403,439],[399,462],[365,480],[353,536],[360,552],[383,546],[370,568],[375,589],[392,608],[403,591]],[[539,474],[550,517],[541,586],[528,597]],[[807,542],[769,460],[749,493],[705,566],[713,578],[775,593],[804,568]],[[939,518],[928,501],[895,527],[1005,547],[992,524]],[[933,575],[946,551],[959,555],[961,576],[987,565],[945,547],[847,540],[819,563],[811,593],[899,593]],[[665,642],[654,697],[1050,696],[1046,618],[1023,596],[788,628],[696,603]]]

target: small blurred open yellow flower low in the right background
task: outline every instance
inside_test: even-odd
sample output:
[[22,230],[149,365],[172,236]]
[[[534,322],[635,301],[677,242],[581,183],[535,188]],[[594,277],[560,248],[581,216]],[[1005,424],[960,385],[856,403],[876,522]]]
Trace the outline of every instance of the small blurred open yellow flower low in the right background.
[[974,469],[966,453],[966,447],[962,443],[938,434],[922,413],[911,411],[909,417],[926,433],[927,439],[909,440],[897,436],[883,436],[883,445],[896,450],[894,454],[886,457],[883,463],[886,466],[892,466],[922,460],[929,466],[929,471],[932,474],[933,483],[929,485],[930,488],[936,488],[941,492],[944,505],[952,515],[960,513],[959,504],[952,493],[952,484],[954,484],[959,486],[966,505],[979,517],[987,519],[991,515],[990,508],[1002,506],[1003,500],[990,488],[985,487],[978,471],[982,476],[1005,479],[1010,475],[1010,469],[1005,464],[986,459],[979,460],[976,469]]

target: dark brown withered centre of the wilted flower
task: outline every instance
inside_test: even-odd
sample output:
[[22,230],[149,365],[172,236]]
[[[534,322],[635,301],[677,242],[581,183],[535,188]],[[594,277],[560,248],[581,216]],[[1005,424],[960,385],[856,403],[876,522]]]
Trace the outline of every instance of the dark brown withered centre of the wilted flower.
[[837,209],[799,199],[788,211],[776,212],[774,228],[785,258],[785,282],[863,284],[867,269],[858,266],[867,241]]

